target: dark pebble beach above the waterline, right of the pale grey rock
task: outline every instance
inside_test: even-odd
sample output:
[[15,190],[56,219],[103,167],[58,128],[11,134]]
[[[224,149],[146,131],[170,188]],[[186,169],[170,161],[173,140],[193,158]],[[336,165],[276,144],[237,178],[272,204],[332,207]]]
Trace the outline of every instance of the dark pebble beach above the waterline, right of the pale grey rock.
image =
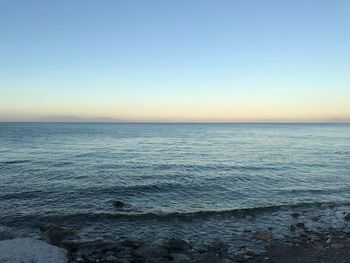
[[319,233],[300,228],[298,236],[274,239],[268,232],[257,232],[255,238],[264,244],[264,251],[246,248],[244,253],[229,252],[229,244],[213,240],[194,248],[193,243],[171,238],[162,245],[124,240],[118,244],[100,244],[94,249],[69,253],[69,262],[154,262],[154,263],[230,263],[230,262],[348,262],[350,232],[329,228]]

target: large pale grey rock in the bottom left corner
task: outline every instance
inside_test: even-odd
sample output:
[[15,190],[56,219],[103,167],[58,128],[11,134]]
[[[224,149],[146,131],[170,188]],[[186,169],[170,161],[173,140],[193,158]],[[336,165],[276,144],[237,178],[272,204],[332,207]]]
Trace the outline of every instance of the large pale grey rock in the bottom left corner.
[[66,263],[67,252],[33,238],[0,241],[1,263]]

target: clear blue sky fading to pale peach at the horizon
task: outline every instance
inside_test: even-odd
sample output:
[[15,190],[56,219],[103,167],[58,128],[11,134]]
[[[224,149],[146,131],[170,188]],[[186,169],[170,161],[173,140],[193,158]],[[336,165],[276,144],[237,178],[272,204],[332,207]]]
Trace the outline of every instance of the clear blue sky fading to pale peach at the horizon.
[[0,121],[350,120],[349,14],[348,0],[0,0]]

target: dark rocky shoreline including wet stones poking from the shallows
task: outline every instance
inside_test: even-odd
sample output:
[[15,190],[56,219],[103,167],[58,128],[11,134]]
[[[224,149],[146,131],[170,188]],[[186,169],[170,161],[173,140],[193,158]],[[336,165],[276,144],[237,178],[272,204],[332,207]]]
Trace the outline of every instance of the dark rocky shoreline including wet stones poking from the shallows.
[[[333,203],[323,203],[319,212],[312,210],[303,214],[298,209],[288,210],[293,223],[286,222],[285,228],[290,235],[282,238],[276,235],[273,223],[260,230],[243,229],[238,234],[243,245],[238,248],[232,243],[234,241],[215,237],[207,244],[181,236],[169,236],[160,242],[128,236],[119,241],[107,241],[101,237],[100,240],[85,242],[79,239],[79,233],[64,226],[43,225],[40,231],[41,239],[65,249],[68,262],[72,263],[347,262],[350,258],[350,213],[346,210],[350,211],[349,206],[340,207]],[[337,215],[342,225],[325,216],[329,213]],[[263,217],[261,214],[246,215],[245,219],[254,223],[261,219],[260,216]],[[329,220],[328,227],[317,227],[322,220]],[[249,241],[246,241],[247,237]],[[14,236],[9,231],[0,231],[0,240],[11,238]]]

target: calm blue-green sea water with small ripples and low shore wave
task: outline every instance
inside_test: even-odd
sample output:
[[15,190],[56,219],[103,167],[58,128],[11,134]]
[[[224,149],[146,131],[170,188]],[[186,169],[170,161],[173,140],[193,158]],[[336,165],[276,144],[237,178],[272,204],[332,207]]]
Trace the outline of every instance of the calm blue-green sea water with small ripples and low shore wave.
[[276,209],[349,200],[350,125],[0,124],[0,224],[18,228],[230,239],[282,227]]

